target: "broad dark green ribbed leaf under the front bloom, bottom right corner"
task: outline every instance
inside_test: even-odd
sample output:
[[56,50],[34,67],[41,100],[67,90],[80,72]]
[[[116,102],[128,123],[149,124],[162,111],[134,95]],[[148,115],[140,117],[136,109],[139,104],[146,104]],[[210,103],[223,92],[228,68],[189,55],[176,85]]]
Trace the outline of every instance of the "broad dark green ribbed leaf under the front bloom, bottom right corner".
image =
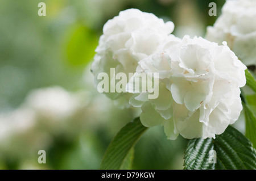
[[[216,163],[210,163],[212,161],[210,150],[216,151]],[[187,170],[256,169],[256,150],[250,140],[231,126],[215,139],[189,140],[184,159],[184,169]]]

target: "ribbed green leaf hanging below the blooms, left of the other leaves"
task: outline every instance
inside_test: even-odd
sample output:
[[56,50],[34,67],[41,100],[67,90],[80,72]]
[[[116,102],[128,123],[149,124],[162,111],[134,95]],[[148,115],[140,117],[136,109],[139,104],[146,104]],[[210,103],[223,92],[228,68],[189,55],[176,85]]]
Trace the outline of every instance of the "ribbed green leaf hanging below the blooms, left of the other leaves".
[[129,154],[132,154],[131,149],[146,130],[139,118],[125,125],[106,150],[100,169],[123,169],[126,159],[129,159]]

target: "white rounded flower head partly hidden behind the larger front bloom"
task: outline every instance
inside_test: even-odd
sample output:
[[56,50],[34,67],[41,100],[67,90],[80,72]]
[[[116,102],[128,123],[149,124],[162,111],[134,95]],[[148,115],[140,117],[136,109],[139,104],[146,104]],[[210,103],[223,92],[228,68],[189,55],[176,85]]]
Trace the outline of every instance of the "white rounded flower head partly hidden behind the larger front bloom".
[[[137,9],[121,11],[118,16],[108,20],[104,25],[103,35],[96,48],[96,56],[92,64],[94,82],[97,84],[99,73],[108,73],[109,89],[114,85],[110,68],[115,68],[115,74],[122,72],[134,73],[138,61],[159,51],[159,45],[174,30],[174,23],[164,23],[163,19]],[[112,78],[110,78],[112,77]],[[127,76],[128,77],[128,76]],[[127,80],[128,81],[128,80]],[[123,87],[125,91],[125,86]],[[128,93],[106,93],[111,99],[120,103],[121,107],[129,107]]]

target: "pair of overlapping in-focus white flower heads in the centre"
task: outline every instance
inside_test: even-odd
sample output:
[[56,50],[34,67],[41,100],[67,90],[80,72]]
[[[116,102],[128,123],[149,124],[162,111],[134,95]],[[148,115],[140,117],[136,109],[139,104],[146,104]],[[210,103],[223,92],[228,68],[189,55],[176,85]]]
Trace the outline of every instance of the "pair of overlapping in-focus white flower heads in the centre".
[[[240,115],[246,66],[226,42],[218,45],[189,36],[179,39],[169,35],[173,29],[172,23],[164,24],[152,14],[134,9],[120,12],[104,26],[93,73],[116,68],[127,74],[136,69],[125,94],[131,106],[141,107],[144,126],[163,125],[171,140],[179,134],[215,137]],[[129,89],[135,84],[134,77],[142,73],[158,73],[158,81],[151,82],[158,84],[158,98],[150,99],[148,90],[135,94],[139,90]],[[112,98],[118,96],[121,94]]]

